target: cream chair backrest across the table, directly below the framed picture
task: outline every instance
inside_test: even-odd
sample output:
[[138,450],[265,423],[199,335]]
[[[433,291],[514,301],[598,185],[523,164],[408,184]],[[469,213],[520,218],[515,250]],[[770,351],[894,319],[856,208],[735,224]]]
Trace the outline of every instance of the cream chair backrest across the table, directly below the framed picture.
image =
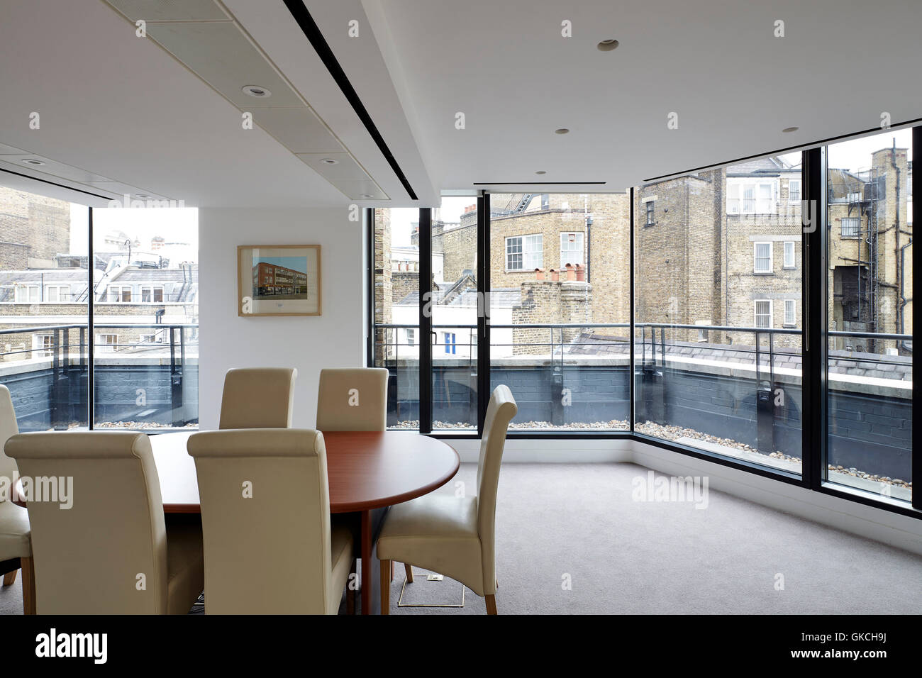
[[290,428],[293,367],[238,367],[224,376],[218,428]]

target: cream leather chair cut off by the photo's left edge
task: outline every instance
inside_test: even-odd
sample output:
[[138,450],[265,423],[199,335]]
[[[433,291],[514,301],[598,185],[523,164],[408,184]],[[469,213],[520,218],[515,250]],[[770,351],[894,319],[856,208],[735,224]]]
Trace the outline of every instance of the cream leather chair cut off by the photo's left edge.
[[[10,483],[17,474],[17,467],[16,462],[4,454],[3,448],[6,440],[18,432],[13,398],[10,398],[9,389],[0,385],[0,478]],[[8,495],[0,496],[0,575],[3,575],[4,586],[12,586],[17,571],[22,569],[22,607],[26,614],[34,614],[29,514],[25,508],[13,504],[12,493],[10,486]]]

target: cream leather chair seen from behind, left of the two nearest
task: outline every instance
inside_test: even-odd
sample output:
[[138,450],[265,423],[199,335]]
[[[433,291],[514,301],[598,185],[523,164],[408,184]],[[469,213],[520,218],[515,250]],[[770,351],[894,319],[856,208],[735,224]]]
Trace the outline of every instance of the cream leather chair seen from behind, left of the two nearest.
[[201,526],[165,526],[147,435],[18,434],[6,454],[24,477],[73,479],[70,508],[26,496],[38,613],[189,612],[205,583]]

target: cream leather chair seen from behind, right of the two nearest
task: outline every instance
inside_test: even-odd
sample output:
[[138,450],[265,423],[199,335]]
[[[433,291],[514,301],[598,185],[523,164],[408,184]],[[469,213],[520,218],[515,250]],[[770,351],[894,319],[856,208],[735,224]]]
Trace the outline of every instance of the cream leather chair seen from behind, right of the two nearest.
[[336,614],[352,563],[330,528],[324,435],[309,429],[189,437],[205,535],[207,614]]

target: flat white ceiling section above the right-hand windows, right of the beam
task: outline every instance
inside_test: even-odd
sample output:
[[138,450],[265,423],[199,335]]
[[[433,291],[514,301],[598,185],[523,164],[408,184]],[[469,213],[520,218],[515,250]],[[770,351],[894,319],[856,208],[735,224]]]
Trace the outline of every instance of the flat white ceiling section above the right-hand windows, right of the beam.
[[[389,31],[388,66],[406,80],[405,106],[441,187],[539,179],[623,190],[876,127],[884,111],[894,124],[922,117],[918,0],[364,5]],[[561,37],[564,19],[571,38]],[[784,38],[774,37],[777,19]],[[619,48],[598,51],[609,38]],[[789,126],[800,129],[783,134]]]

